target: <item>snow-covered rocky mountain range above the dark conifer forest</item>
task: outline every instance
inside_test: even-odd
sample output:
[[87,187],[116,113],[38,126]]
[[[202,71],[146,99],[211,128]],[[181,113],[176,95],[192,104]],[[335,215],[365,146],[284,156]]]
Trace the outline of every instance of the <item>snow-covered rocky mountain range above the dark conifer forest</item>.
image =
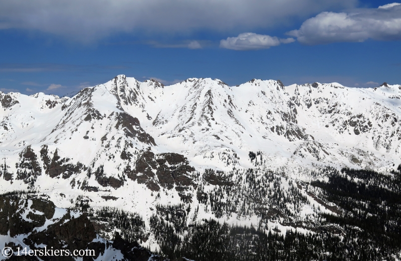
[[[34,189],[57,207],[83,197],[90,207],[141,213],[146,227],[158,206],[182,202],[190,206],[187,223],[255,224],[256,212],[216,214],[203,195],[240,184],[252,168],[282,173],[282,189],[298,187],[315,202],[300,182],[323,166],[389,171],[401,163],[400,98],[401,85],[386,83],[359,89],[252,80],[230,87],[192,78],[164,86],[124,75],[72,98],[1,93],[0,190]],[[152,236],[145,246],[155,247]]]

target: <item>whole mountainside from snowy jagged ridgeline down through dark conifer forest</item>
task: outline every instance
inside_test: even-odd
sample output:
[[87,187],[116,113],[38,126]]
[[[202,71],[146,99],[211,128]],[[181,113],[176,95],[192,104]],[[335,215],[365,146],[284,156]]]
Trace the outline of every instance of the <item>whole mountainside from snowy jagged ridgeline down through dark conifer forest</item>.
[[399,85],[120,75],[0,104],[0,244],[89,227],[103,260],[400,259]]

